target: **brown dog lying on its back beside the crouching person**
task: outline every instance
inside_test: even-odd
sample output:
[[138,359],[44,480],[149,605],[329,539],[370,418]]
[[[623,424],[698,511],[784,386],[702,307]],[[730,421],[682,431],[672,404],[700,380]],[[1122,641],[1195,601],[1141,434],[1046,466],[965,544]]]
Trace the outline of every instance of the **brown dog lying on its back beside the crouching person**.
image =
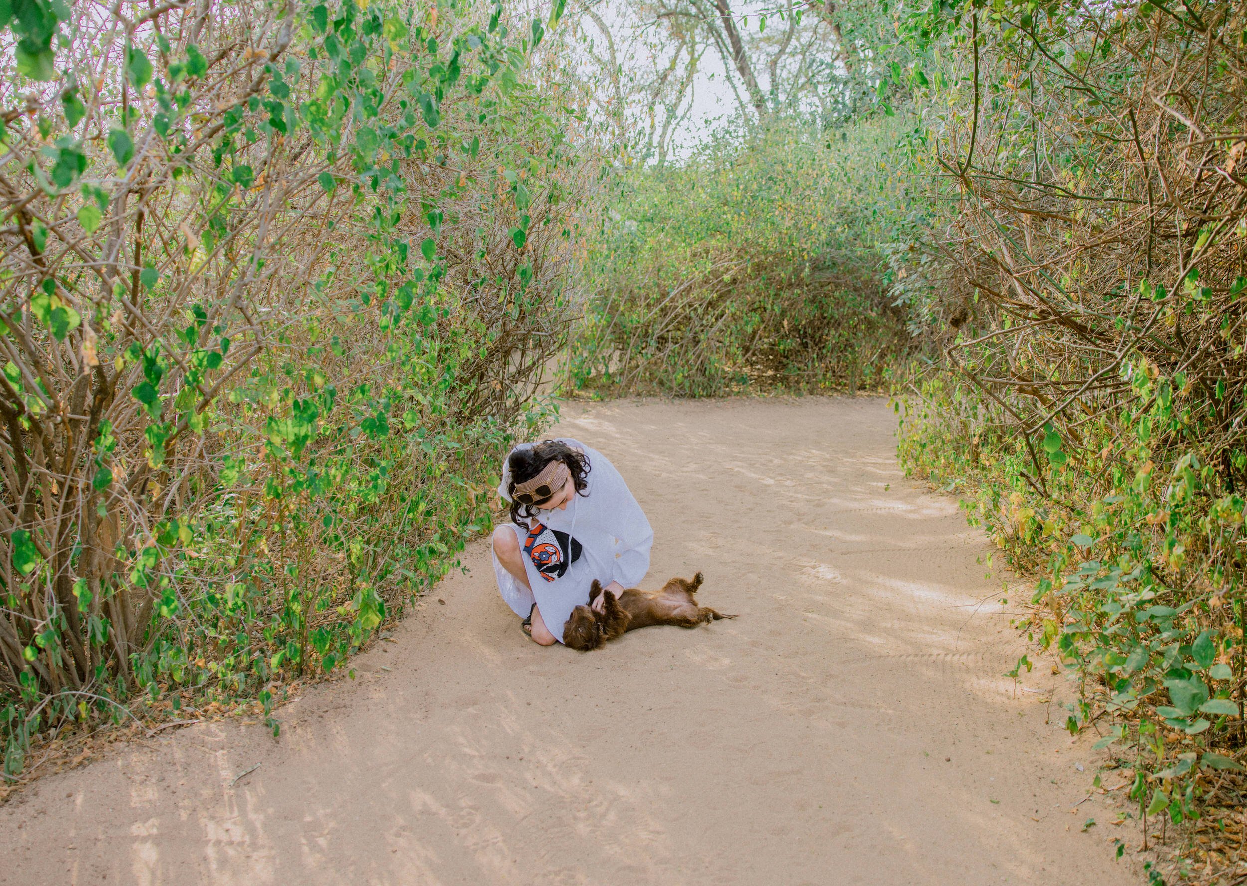
[[572,609],[571,618],[562,625],[562,643],[584,653],[622,636],[625,631],[652,624],[696,628],[717,619],[734,619],[734,615],[697,605],[695,594],[701,583],[702,574],[697,573],[692,582],[673,578],[661,590],[628,588],[616,598],[609,590],[602,591],[601,583],[594,579],[589,589],[589,603],[592,604],[605,593],[602,611],[584,604]]

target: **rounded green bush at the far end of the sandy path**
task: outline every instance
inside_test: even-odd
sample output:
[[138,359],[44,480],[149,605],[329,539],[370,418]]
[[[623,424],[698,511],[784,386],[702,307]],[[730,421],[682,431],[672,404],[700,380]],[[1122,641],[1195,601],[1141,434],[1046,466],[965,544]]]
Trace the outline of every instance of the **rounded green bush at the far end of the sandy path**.
[[591,240],[574,383],[681,396],[885,386],[908,334],[880,237],[900,119],[772,117],[625,177]]

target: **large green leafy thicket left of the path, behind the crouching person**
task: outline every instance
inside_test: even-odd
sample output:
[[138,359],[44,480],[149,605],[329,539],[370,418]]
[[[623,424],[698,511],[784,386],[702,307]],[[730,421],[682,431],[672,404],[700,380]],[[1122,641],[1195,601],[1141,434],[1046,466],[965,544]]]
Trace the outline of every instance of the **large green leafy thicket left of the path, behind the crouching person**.
[[49,728],[267,713],[444,574],[541,419],[594,177],[531,85],[561,4],[14,9],[9,779]]

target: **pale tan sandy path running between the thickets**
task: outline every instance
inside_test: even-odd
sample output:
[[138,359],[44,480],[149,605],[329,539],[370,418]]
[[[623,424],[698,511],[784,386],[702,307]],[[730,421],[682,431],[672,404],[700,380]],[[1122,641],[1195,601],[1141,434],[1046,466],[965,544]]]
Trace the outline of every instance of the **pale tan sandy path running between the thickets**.
[[1140,882],[1105,799],[1075,809],[1062,678],[1000,676],[1026,646],[988,545],[903,478],[883,401],[564,416],[653,523],[647,584],[701,569],[739,619],[541,649],[474,547],[279,741],[201,724],[9,802],[0,882]]

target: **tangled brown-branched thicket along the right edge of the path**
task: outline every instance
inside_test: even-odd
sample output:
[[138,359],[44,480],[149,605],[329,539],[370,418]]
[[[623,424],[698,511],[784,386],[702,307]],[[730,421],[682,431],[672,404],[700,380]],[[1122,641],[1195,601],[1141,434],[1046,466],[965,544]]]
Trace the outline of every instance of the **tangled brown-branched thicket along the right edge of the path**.
[[1089,678],[1069,726],[1117,715],[1142,812],[1235,804],[1247,5],[936,4],[908,27],[941,185],[898,281],[938,354],[902,455],[1039,570],[1042,640]]

